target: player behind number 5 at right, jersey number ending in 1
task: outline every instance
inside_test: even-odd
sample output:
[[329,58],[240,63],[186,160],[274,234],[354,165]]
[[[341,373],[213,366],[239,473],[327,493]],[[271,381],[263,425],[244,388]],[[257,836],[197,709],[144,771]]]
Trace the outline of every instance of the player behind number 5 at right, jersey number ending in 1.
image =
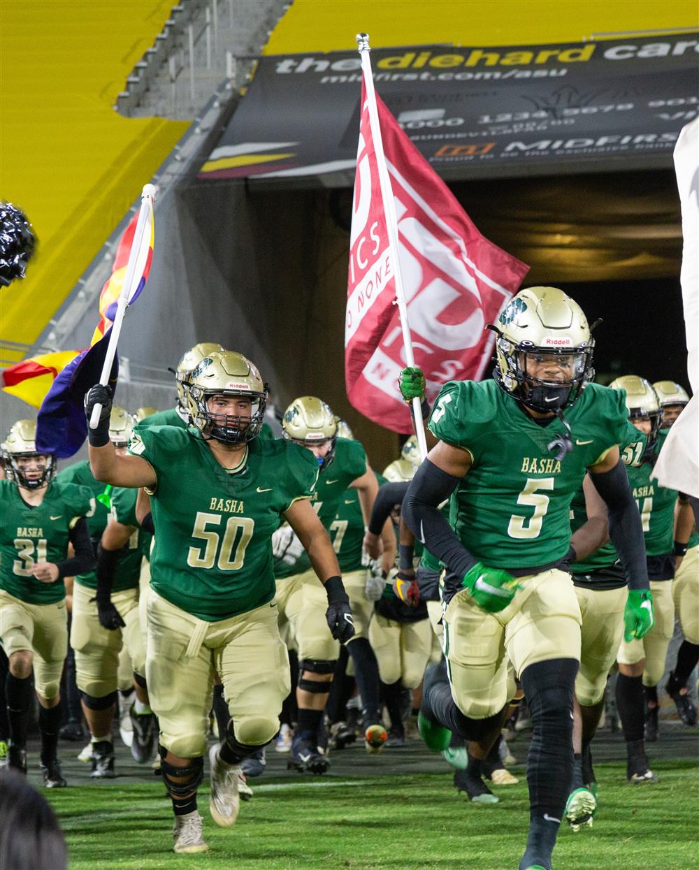
[[[638,679],[642,677],[645,695],[645,739],[658,739],[657,685],[665,673],[668,647],[675,631],[675,602],[672,598],[672,580],[675,577],[674,525],[677,492],[659,486],[651,480],[655,458],[665,434],[660,433],[662,412],[655,390],[645,378],[626,375],[616,378],[612,387],[626,391],[628,418],[646,436],[646,447],[640,465],[628,466],[628,480],[641,513],[643,536],[648,558],[650,589],[655,604],[655,624],[643,639],[624,639],[617,662],[619,673]],[[621,716],[622,711],[620,711]],[[628,728],[635,731],[637,721],[628,725],[631,716],[622,717],[622,726],[628,740]],[[626,719],[626,722],[625,722]]]

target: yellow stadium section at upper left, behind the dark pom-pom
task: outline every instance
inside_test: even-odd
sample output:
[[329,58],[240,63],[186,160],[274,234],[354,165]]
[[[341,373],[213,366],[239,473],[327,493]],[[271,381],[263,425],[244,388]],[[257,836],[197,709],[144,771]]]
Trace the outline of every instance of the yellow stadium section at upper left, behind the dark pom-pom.
[[2,3],[0,197],[39,240],[27,278],[0,293],[4,340],[37,340],[189,125],[112,109],[171,5]]

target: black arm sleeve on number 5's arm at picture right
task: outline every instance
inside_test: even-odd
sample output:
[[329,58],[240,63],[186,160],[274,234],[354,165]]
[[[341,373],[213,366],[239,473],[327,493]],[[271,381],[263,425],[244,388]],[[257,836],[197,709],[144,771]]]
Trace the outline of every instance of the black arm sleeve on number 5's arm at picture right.
[[609,538],[622,560],[628,588],[649,589],[641,514],[628,485],[626,466],[620,459],[609,472],[590,472],[590,479],[607,505]]

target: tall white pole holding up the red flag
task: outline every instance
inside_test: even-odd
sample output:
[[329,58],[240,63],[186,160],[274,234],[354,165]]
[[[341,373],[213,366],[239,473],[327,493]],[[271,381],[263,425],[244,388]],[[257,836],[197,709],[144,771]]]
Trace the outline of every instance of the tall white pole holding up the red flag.
[[[393,188],[391,186],[391,178],[388,175],[386,167],[386,156],[384,154],[383,140],[381,139],[381,128],[379,124],[379,110],[376,108],[376,92],[373,90],[372,63],[369,59],[369,35],[368,33],[357,34],[357,45],[361,57],[361,70],[364,75],[364,85],[366,87],[366,102],[369,109],[369,125],[372,131],[373,150],[376,154],[376,164],[379,167],[379,182],[381,188],[381,199],[384,205],[384,214],[386,215],[386,230],[388,231],[388,248],[391,251],[391,260],[393,262],[393,277],[395,282],[395,297],[398,303],[398,313],[400,319],[400,329],[403,332],[403,348],[406,354],[406,365],[415,365],[413,355],[413,341],[410,338],[410,324],[407,318],[406,296],[403,291],[403,279],[400,273],[400,258],[398,255],[398,220],[395,214],[395,204],[393,203]],[[415,425],[415,434],[420,445],[420,456],[427,456],[427,439],[425,438],[425,428],[422,422],[422,408],[420,399],[413,398],[413,418]]]

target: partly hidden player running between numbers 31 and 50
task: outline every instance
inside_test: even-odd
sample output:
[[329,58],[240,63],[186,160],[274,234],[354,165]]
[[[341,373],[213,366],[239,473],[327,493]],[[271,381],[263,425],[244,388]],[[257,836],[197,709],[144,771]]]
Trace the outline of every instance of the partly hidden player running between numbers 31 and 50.
[[[126,455],[134,422],[123,408],[112,406],[108,434],[119,456]],[[89,468],[87,471],[89,473]],[[92,481],[93,487],[104,489],[103,484],[94,478]],[[111,486],[107,489],[109,492],[102,492],[97,498],[111,512],[111,519],[105,524],[97,545],[96,570],[75,578],[71,623],[77,688],[91,733],[91,775],[98,779],[111,779],[115,775],[111,723],[118,697],[118,659],[122,646],[131,657],[132,681],[137,693],[130,713],[133,758],[141,764],[151,760],[154,739],[153,716],[145,693],[145,638],[138,617],[141,561],[150,549],[151,536],[140,531],[135,519],[136,491],[116,490]],[[118,517],[129,522],[124,524]]]

